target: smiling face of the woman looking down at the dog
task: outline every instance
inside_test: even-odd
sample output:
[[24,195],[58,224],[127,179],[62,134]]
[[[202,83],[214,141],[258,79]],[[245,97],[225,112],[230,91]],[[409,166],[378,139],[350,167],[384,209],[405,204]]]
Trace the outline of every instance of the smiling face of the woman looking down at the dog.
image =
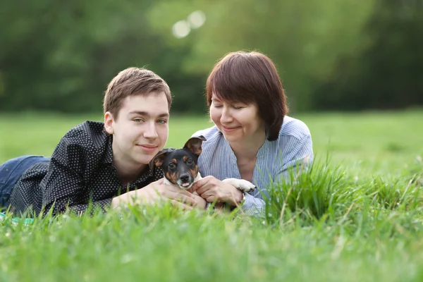
[[264,121],[256,104],[229,103],[212,95],[210,118],[228,142],[251,140],[264,135]]

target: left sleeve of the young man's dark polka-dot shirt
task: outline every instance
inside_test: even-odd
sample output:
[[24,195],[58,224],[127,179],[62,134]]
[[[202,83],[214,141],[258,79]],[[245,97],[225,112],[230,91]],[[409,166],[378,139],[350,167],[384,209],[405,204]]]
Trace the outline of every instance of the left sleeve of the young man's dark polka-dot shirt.
[[[90,204],[90,192],[87,192],[87,176],[89,169],[87,159],[92,154],[87,149],[75,144],[72,138],[63,137],[51,156],[49,171],[40,183],[42,206],[44,214],[51,208],[53,214],[60,214],[70,209],[71,212],[82,214]],[[99,207],[105,211],[111,204],[111,199],[92,202],[92,210]]]

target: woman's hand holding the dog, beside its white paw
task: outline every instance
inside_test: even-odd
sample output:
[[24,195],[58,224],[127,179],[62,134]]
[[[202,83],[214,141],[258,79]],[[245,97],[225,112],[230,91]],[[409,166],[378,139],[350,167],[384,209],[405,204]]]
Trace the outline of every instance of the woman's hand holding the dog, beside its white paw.
[[196,191],[198,195],[210,203],[216,201],[236,206],[243,200],[243,192],[231,184],[214,178],[214,176],[206,176],[198,180],[188,191]]

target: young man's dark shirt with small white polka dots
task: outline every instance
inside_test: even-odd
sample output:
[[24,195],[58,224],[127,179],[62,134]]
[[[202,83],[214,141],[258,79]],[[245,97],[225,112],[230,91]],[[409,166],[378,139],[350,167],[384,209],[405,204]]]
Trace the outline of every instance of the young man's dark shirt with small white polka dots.
[[116,175],[111,149],[112,136],[104,132],[104,123],[86,121],[71,129],[59,142],[51,161],[31,166],[16,183],[11,195],[11,211],[30,210],[35,215],[85,212],[90,200],[103,211],[113,197],[145,187],[164,177],[161,168],[147,170],[127,187]]

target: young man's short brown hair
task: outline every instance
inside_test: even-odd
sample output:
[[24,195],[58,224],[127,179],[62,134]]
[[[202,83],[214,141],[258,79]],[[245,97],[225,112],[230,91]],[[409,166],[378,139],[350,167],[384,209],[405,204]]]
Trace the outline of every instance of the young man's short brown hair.
[[126,68],[118,73],[107,86],[103,102],[104,114],[109,111],[116,119],[123,99],[133,95],[146,95],[150,92],[164,92],[170,111],[171,90],[163,78],[145,68]]

